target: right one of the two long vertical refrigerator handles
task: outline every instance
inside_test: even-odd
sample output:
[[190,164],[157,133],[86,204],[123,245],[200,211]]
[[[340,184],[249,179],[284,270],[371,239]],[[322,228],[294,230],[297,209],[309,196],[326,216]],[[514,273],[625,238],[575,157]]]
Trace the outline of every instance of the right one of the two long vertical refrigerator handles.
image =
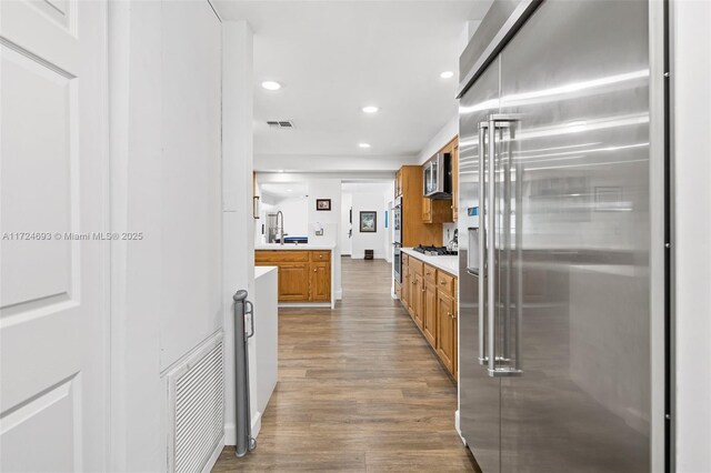
[[[508,346],[509,346],[509,335],[510,335],[510,330],[509,330],[509,318],[505,318],[505,324],[507,326],[502,330],[502,335],[505,340],[503,340],[503,345],[504,349],[507,351],[507,353],[504,353],[502,356],[497,356],[497,351],[498,351],[498,345],[497,345],[497,308],[498,308],[498,302],[495,299],[497,295],[497,278],[495,278],[495,272],[497,272],[497,266],[495,266],[495,258],[494,258],[494,249],[495,249],[495,234],[497,234],[497,215],[495,215],[495,179],[497,179],[497,170],[495,170],[495,160],[498,157],[498,147],[497,147],[497,133],[500,133],[500,131],[504,128],[507,129],[511,129],[512,128],[512,123],[519,121],[518,115],[511,115],[511,114],[492,114],[489,117],[489,125],[488,125],[488,138],[489,138],[489,143],[488,143],[488,148],[489,148],[489,187],[487,189],[487,198],[488,198],[488,212],[485,214],[485,222],[487,222],[487,229],[485,229],[485,233],[487,233],[487,299],[488,299],[488,334],[489,334],[489,343],[488,343],[488,352],[489,352],[489,356],[488,356],[488,362],[489,362],[489,368],[488,368],[488,372],[489,375],[492,378],[501,378],[501,376],[518,376],[521,375],[522,371],[520,370],[520,340],[519,340],[519,335],[520,335],[520,331],[518,330],[518,328],[520,326],[520,301],[517,301],[517,330],[515,330],[515,358],[513,360],[513,365],[510,365],[510,359],[509,353],[508,353]],[[510,182],[510,177],[504,177],[502,180],[502,185],[507,189],[503,189],[504,194],[508,194],[508,187],[511,185]],[[508,211],[510,207],[510,203],[504,205],[504,212],[503,212],[503,218],[504,219],[511,219],[511,214]],[[517,212],[520,212],[520,209],[517,209]],[[505,224],[504,229],[509,229],[510,224]],[[520,228],[515,229],[517,233],[521,231]],[[510,235],[507,235],[505,240],[508,241],[510,238]],[[509,251],[509,248],[504,248],[505,251]],[[518,249],[517,249],[518,250]],[[510,259],[507,259],[507,261],[510,261]],[[517,262],[517,268],[519,265],[519,262]],[[510,264],[509,264],[510,266]],[[511,270],[511,268],[507,268],[507,278],[509,278],[509,271]],[[507,284],[507,291],[511,291],[511,286],[510,284]],[[510,294],[504,294],[503,298],[507,301],[507,306],[503,308],[504,311],[509,311],[510,310]]]

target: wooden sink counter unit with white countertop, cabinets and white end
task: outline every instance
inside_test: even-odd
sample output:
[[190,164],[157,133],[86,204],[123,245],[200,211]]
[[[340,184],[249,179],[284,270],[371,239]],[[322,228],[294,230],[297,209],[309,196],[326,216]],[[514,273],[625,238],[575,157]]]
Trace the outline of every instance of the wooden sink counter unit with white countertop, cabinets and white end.
[[279,306],[336,304],[333,244],[258,244],[254,265],[277,266]]

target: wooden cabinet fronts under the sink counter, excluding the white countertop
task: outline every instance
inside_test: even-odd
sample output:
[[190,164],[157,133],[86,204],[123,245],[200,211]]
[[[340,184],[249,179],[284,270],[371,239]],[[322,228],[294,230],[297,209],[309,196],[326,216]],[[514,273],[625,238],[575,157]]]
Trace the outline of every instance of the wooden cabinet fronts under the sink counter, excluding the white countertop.
[[254,264],[279,268],[279,302],[331,302],[331,252],[257,250]]

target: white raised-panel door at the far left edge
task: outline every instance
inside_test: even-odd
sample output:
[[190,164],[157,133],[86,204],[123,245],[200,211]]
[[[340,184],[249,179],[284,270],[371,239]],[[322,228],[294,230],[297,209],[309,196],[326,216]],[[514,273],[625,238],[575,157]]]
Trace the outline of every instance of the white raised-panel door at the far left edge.
[[104,471],[106,2],[0,1],[0,471]]

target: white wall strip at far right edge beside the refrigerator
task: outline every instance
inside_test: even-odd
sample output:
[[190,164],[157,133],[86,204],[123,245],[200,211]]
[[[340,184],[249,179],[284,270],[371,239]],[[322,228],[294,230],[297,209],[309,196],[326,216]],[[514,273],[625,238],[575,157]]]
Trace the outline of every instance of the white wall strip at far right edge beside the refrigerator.
[[672,10],[677,471],[711,472],[711,2]]

